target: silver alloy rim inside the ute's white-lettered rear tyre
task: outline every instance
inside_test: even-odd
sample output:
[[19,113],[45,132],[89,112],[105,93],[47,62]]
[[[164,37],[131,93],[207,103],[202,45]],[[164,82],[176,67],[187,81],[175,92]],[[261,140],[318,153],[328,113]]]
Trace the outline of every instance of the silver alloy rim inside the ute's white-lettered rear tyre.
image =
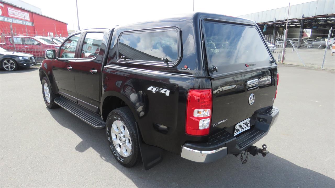
[[129,156],[131,154],[132,141],[126,125],[122,121],[116,120],[113,122],[111,129],[115,149],[121,156]]

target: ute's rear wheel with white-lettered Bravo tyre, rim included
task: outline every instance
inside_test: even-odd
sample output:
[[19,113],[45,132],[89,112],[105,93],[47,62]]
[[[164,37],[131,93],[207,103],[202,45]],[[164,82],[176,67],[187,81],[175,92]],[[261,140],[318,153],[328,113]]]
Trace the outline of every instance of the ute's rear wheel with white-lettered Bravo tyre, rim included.
[[115,159],[125,167],[140,161],[135,118],[128,107],[113,110],[107,117],[106,136]]

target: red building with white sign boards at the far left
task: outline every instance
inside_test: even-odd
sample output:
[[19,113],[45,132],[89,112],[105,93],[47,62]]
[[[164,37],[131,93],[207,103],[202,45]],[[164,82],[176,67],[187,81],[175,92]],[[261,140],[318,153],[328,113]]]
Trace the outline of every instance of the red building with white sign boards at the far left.
[[0,1],[0,33],[10,35],[67,37],[67,23]]

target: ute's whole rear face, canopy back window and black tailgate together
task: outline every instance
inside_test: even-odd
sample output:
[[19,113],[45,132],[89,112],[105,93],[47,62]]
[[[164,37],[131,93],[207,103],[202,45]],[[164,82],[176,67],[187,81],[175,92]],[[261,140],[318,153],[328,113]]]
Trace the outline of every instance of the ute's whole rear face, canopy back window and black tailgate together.
[[[205,54],[213,90],[211,132],[226,128],[271,107],[277,65],[255,25],[203,21]],[[250,102],[249,102],[250,101]]]

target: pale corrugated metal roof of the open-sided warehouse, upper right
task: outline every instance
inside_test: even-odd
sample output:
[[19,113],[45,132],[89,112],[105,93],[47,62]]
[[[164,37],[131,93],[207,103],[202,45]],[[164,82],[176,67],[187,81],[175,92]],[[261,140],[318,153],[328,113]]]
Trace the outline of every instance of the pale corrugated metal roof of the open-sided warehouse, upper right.
[[[256,23],[273,22],[274,20],[287,19],[288,6],[256,12],[252,14],[241,15],[238,17],[255,21]],[[289,7],[288,19],[302,17],[313,17],[327,14],[335,14],[335,0],[318,0]]]

